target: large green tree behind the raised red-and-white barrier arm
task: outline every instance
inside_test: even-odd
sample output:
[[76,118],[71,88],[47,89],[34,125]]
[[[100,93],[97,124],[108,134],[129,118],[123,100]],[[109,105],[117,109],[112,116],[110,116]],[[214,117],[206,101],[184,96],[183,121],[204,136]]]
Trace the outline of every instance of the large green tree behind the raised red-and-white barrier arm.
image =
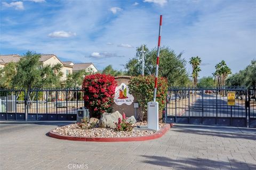
[[[127,75],[137,76],[142,73],[141,53],[142,46],[137,48],[134,58],[131,58],[125,64],[125,72]],[[154,75],[156,70],[157,48],[148,50],[144,46],[145,52],[145,75]],[[189,83],[186,71],[186,60],[181,57],[182,53],[175,54],[174,50],[168,47],[162,47],[160,50],[159,77],[167,79],[169,86],[186,86]]]

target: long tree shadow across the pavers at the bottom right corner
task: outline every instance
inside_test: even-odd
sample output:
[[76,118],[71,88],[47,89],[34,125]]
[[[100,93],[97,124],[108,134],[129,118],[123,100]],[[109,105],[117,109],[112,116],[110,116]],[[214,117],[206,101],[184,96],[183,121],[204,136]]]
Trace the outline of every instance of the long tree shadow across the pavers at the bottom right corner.
[[203,158],[178,158],[171,159],[164,156],[147,156],[142,155],[142,157],[147,158],[143,160],[143,163],[165,166],[165,167],[174,167],[174,169],[232,169],[232,170],[241,170],[241,169],[256,169],[256,164],[250,164],[241,162],[238,160],[230,159],[226,161],[221,160],[210,160]]

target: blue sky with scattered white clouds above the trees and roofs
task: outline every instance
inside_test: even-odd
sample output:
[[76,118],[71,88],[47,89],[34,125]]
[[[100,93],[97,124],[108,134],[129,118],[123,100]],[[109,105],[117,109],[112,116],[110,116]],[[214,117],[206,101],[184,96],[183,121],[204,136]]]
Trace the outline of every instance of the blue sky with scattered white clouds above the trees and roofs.
[[[0,5],[2,55],[29,50],[93,62],[99,70],[109,64],[124,70],[136,47],[157,47],[163,15],[161,46],[183,52],[187,61],[201,57],[199,77],[212,75],[221,60],[233,73],[256,60],[256,1],[2,0]],[[191,73],[189,64],[187,70]]]

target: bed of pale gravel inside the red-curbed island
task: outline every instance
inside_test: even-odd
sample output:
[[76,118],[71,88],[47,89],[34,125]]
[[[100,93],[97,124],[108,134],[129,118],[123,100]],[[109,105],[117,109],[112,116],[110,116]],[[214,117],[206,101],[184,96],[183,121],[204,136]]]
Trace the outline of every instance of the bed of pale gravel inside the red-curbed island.
[[[147,122],[137,122],[134,126],[145,126]],[[164,123],[159,123],[159,128],[162,128]],[[68,135],[71,137],[91,137],[91,138],[118,138],[118,137],[141,137],[156,133],[155,131],[138,130],[134,128],[130,132],[116,131],[110,128],[93,128],[93,129],[81,129],[77,124],[70,124],[53,130],[55,133],[61,135]]]

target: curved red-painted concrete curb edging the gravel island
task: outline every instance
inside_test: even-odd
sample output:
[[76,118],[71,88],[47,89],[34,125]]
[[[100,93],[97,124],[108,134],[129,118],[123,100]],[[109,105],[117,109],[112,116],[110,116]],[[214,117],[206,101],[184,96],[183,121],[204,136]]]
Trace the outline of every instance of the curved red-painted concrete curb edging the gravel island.
[[151,139],[161,138],[173,124],[164,125],[158,132],[146,135],[142,137],[122,137],[122,138],[90,138],[90,137],[70,137],[67,135],[61,135],[51,130],[48,134],[52,138],[63,139],[63,140],[74,140],[74,141],[86,141],[86,142],[130,142],[130,141],[145,141]]

